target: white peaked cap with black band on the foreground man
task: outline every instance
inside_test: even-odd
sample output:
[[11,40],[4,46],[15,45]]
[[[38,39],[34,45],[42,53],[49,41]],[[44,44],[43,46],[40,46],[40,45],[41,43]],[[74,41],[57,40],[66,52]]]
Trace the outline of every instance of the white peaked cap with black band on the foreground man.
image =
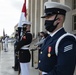
[[47,1],[44,3],[44,15],[42,18],[45,18],[48,15],[53,15],[53,14],[62,14],[65,15],[66,12],[70,11],[71,8],[67,5],[58,3],[58,2],[51,2]]

